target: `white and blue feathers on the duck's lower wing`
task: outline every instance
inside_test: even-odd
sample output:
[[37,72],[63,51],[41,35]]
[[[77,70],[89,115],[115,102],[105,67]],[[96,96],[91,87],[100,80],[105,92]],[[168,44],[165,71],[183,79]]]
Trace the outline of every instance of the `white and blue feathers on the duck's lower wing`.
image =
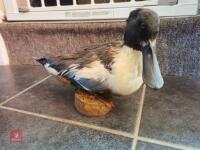
[[105,90],[104,81],[107,79],[109,72],[104,66],[97,61],[90,67],[79,68],[78,65],[69,67],[62,75],[71,81],[75,86],[86,91],[97,92]]

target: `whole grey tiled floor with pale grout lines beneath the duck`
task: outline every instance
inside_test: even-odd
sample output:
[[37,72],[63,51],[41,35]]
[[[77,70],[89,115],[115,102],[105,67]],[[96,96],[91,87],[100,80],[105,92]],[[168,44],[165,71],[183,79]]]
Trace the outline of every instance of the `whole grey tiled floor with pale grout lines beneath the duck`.
[[73,88],[40,67],[0,70],[1,149],[200,149],[200,79],[167,77],[163,89],[114,97],[112,112],[91,118],[75,110]]

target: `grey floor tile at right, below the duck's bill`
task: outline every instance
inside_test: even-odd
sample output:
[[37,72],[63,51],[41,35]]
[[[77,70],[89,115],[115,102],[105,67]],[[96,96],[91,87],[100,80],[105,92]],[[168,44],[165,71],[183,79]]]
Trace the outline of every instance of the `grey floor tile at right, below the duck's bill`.
[[200,79],[168,77],[147,89],[140,135],[200,148]]

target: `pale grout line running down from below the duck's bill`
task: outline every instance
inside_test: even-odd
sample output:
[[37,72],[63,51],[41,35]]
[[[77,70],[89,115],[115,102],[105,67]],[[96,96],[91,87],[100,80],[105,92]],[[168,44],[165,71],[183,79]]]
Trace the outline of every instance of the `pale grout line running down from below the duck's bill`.
[[134,133],[133,133],[133,136],[135,138],[132,142],[131,150],[136,150],[136,146],[137,146],[138,134],[139,134],[140,123],[141,123],[141,118],[142,118],[142,110],[143,110],[143,106],[144,106],[145,91],[146,91],[146,84],[144,84],[142,87],[142,94],[140,97],[140,104],[139,104],[139,108],[138,108],[138,112],[137,112],[135,129],[134,129]]

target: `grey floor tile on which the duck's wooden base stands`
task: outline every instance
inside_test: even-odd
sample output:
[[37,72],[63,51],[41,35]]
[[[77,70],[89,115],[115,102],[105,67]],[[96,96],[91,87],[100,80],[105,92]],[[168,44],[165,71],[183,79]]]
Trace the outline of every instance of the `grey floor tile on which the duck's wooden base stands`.
[[52,77],[7,103],[6,106],[133,132],[140,92],[141,90],[127,97],[115,97],[115,107],[106,116],[86,117],[74,108],[73,89]]

